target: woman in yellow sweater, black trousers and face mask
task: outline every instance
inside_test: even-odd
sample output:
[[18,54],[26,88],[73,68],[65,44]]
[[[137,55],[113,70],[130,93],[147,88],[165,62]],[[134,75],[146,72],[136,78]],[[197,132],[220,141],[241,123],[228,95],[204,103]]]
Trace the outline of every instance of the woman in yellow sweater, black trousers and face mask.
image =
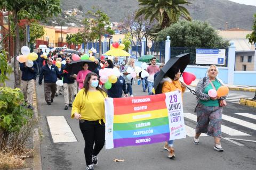
[[93,170],[93,165],[98,164],[97,155],[105,145],[106,97],[106,92],[99,87],[98,75],[91,72],[86,75],[84,87],[73,102],[71,118],[79,120],[79,127],[84,137],[86,170]]

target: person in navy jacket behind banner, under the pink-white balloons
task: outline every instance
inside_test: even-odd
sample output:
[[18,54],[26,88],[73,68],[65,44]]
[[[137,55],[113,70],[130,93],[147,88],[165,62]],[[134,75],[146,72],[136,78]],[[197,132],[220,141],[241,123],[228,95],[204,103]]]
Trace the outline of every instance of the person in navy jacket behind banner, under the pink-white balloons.
[[108,97],[120,98],[122,97],[123,91],[124,96],[128,97],[125,79],[122,77],[122,75],[120,75],[120,77],[117,79],[117,82],[112,84],[111,88],[108,90]]

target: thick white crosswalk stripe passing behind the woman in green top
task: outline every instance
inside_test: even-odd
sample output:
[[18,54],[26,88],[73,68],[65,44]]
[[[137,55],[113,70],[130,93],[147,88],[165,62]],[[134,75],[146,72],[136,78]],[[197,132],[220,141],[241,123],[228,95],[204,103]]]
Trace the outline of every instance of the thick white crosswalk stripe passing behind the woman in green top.
[[[184,117],[197,122],[196,115],[194,115],[194,114],[184,113]],[[221,132],[226,133],[231,136],[250,136],[250,134],[229,128],[228,126],[225,126],[225,125],[221,125]]]

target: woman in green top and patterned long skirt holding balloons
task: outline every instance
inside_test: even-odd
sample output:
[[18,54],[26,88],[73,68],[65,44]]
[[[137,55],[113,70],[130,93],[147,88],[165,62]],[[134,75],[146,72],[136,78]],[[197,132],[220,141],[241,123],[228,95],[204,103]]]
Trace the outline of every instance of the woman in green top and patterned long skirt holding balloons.
[[210,97],[208,95],[210,89],[215,88],[215,90],[218,90],[219,87],[223,86],[222,81],[216,78],[218,73],[217,66],[211,65],[207,70],[208,77],[201,79],[197,83],[197,106],[195,108],[197,125],[193,142],[198,145],[200,134],[207,132],[207,135],[214,137],[215,146],[213,149],[223,151],[220,144],[222,107],[219,105],[219,99],[225,99],[226,97]]

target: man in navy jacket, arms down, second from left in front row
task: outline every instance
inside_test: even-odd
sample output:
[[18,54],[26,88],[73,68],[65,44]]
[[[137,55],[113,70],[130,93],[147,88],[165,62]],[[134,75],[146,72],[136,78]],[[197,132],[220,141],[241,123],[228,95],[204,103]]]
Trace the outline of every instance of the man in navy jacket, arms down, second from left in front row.
[[39,76],[39,85],[42,85],[44,78],[44,98],[47,105],[51,105],[53,98],[56,94],[56,81],[60,76],[58,67],[52,64],[52,58],[47,58],[47,64],[43,67],[43,70]]

